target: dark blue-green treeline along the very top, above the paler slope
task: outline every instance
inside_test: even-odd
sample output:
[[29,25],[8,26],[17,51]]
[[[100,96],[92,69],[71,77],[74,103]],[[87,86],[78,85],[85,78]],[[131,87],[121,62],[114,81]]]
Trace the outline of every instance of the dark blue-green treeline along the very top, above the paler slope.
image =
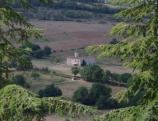
[[[85,4],[83,1],[86,1],[87,3],[92,4]],[[52,4],[44,5],[40,4],[39,2],[33,1],[31,4],[35,7],[48,7],[53,9],[71,9],[71,10],[84,10],[84,11],[90,11],[90,12],[96,12],[96,13],[106,13],[106,14],[114,14],[119,12],[121,9],[119,8],[111,8],[109,6],[105,6],[101,3],[96,3],[97,0],[59,0],[52,2]],[[96,4],[93,4],[96,3]],[[18,7],[14,5],[14,7]]]

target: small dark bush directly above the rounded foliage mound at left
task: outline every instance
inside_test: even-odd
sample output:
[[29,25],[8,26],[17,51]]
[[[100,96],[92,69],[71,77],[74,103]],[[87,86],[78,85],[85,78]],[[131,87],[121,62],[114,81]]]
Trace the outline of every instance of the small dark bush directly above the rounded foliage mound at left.
[[23,75],[16,75],[13,77],[13,84],[20,85],[25,88],[30,88],[30,85],[26,83],[26,79]]

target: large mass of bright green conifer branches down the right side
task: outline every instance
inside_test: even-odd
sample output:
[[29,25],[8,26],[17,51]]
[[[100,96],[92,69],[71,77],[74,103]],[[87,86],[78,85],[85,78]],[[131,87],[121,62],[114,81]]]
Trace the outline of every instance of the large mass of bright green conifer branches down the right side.
[[124,60],[125,66],[140,70],[128,93],[136,95],[145,90],[141,102],[147,103],[156,97],[158,87],[158,1],[157,0],[113,0],[120,5],[130,5],[116,16],[124,21],[117,24],[110,35],[122,36],[115,44],[91,46],[92,53],[100,56],[116,56]]

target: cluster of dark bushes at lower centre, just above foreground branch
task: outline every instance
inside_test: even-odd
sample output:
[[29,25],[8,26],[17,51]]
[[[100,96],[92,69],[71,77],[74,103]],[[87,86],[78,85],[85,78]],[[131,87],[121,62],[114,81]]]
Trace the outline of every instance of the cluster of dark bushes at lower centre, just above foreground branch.
[[111,98],[111,88],[101,83],[95,83],[91,89],[78,88],[72,97],[73,101],[85,105],[96,105],[98,109],[111,109],[117,107],[117,101]]

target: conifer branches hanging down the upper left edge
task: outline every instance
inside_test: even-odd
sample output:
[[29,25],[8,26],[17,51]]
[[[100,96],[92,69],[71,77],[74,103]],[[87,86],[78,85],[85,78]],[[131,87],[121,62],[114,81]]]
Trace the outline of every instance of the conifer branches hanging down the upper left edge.
[[[42,39],[42,31],[34,28],[18,11],[12,8],[12,5],[15,4],[19,7],[30,8],[31,1],[0,1],[0,78],[3,80],[8,78],[10,60],[15,60],[18,63],[22,58],[20,56],[23,50],[15,47],[12,41],[24,44],[29,42],[30,38]],[[48,3],[48,1],[50,0],[44,0],[43,2]]]

